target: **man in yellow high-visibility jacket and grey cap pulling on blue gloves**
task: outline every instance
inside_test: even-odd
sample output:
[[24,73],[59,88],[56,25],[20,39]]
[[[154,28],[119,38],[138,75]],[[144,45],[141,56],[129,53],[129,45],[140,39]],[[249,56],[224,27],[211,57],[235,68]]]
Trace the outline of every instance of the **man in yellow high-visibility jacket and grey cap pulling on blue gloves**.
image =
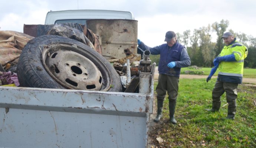
[[213,106],[206,110],[219,111],[220,97],[226,92],[226,99],[229,104],[226,118],[234,120],[237,106],[237,86],[242,83],[244,58],[247,57],[248,50],[242,43],[236,41],[236,38],[230,32],[224,33],[221,38],[223,38],[226,46],[213,60],[215,67],[212,68],[206,79],[208,82],[219,67],[217,81],[212,91]]

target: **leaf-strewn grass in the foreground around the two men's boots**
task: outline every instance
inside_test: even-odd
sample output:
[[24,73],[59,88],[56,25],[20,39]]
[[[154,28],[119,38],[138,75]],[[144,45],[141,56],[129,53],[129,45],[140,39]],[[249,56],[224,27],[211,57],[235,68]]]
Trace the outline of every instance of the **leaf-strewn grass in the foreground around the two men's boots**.
[[[228,106],[224,105],[227,103],[225,94],[221,97],[220,112],[209,113],[204,110],[211,108],[211,91],[215,81],[216,78],[209,83],[204,79],[180,79],[175,112],[177,125],[168,121],[166,96],[163,119],[150,132],[152,142],[155,143],[151,148],[256,147],[256,88],[239,85],[236,119],[225,120]],[[161,144],[157,141],[159,137],[164,140]]]

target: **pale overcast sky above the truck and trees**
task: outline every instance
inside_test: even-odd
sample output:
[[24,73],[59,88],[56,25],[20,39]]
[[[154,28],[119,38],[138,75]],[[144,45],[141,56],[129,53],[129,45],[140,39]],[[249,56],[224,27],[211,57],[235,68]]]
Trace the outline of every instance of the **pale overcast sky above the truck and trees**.
[[256,37],[255,0],[0,0],[0,30],[23,32],[23,24],[44,24],[50,10],[74,9],[131,11],[138,38],[152,47],[165,43],[168,30],[193,33],[222,19],[228,29]]

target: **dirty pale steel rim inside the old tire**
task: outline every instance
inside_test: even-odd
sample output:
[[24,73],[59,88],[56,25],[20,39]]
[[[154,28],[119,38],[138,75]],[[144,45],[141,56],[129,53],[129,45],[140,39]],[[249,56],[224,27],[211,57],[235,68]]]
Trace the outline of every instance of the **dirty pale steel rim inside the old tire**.
[[107,91],[111,86],[111,75],[104,63],[75,44],[44,46],[42,63],[51,77],[66,88]]

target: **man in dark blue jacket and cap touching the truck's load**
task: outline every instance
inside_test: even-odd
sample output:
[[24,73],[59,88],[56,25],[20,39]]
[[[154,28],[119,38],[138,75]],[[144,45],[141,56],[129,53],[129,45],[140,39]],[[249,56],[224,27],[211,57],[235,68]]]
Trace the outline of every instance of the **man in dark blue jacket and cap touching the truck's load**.
[[167,31],[165,34],[166,44],[156,47],[148,47],[138,39],[138,47],[143,51],[150,50],[151,54],[160,54],[160,61],[158,64],[158,85],[157,92],[157,117],[155,122],[159,122],[162,117],[163,101],[168,93],[169,99],[169,113],[170,122],[176,124],[174,118],[176,100],[178,95],[178,82],[180,77],[181,67],[188,67],[190,65],[190,57],[187,50],[177,41],[176,34],[173,31]]

